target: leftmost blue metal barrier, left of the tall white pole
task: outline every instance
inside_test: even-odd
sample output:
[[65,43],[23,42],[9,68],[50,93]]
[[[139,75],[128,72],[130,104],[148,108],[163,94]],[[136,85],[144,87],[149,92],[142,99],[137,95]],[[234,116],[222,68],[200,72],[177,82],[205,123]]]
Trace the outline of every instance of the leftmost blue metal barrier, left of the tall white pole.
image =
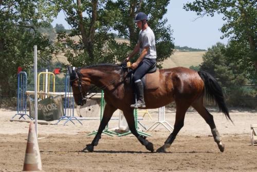
[[20,116],[19,119],[24,118],[24,116],[31,118],[29,115],[27,115],[27,73],[26,72],[19,72],[17,75],[17,114],[15,114],[11,119],[15,118],[15,116]]

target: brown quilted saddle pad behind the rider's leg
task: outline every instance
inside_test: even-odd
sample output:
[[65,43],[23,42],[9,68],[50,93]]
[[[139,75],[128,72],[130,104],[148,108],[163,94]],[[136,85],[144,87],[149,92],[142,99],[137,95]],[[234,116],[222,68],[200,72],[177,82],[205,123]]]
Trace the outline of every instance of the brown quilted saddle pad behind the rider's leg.
[[157,89],[160,84],[160,72],[157,70],[154,73],[146,74],[145,89]]

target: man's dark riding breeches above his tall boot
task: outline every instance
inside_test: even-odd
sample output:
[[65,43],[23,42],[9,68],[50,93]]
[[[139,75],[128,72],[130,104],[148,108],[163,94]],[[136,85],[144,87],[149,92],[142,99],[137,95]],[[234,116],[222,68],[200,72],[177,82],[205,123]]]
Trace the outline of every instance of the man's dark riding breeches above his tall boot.
[[156,63],[156,59],[144,58],[134,72],[134,82],[141,80],[141,78],[151,69],[154,63]]

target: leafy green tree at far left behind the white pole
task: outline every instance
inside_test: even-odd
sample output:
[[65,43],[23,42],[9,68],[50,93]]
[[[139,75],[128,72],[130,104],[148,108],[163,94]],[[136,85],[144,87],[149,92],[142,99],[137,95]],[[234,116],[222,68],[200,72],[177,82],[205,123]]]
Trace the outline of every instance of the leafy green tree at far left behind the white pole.
[[55,15],[51,5],[43,0],[0,0],[0,95],[16,94],[16,69],[33,66],[34,45],[38,45],[39,66],[51,59],[49,39],[36,30],[49,25]]

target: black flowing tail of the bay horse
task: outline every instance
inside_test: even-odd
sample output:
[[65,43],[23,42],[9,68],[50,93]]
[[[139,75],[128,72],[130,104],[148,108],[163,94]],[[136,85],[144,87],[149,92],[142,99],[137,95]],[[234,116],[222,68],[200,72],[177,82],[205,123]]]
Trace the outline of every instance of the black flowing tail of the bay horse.
[[211,101],[215,100],[218,105],[219,111],[222,111],[225,114],[226,118],[231,120],[228,112],[228,107],[226,106],[226,103],[224,101],[224,95],[221,85],[219,85],[216,79],[207,72],[198,71],[198,74],[205,83],[205,94],[207,98]]

